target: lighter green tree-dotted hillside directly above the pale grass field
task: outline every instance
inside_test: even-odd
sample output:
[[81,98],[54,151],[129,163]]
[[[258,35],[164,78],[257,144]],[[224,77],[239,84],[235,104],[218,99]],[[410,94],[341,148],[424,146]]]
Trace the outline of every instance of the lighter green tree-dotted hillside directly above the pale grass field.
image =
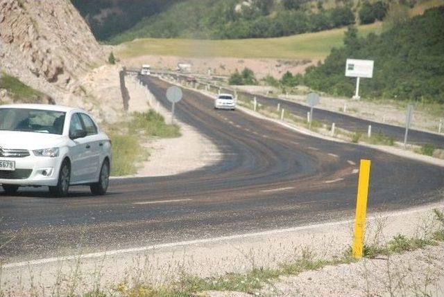
[[[135,38],[239,39],[281,37],[355,24],[354,1],[188,0],[146,17],[110,39]],[[324,7],[325,3],[325,7]],[[327,5],[328,4],[328,5]]]

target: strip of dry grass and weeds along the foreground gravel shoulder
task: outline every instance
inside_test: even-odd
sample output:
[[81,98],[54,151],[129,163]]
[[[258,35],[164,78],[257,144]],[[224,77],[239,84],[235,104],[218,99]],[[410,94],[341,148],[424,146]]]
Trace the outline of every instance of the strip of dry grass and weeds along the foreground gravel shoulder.
[[[429,219],[432,219],[430,221]],[[398,286],[401,286],[406,295],[402,296],[429,296],[428,294],[420,294],[425,291],[421,291],[424,287],[432,288],[432,278],[426,278],[425,284],[418,283],[418,279],[415,280],[413,287],[403,287],[407,284],[404,282],[402,273],[397,269],[399,267],[391,266],[390,260],[394,255],[399,255],[406,252],[416,251],[419,249],[426,249],[428,246],[438,246],[444,244],[444,213],[443,210],[434,209],[433,217],[425,219],[427,222],[421,222],[417,226],[418,232],[413,236],[406,236],[400,233],[394,235],[386,242],[381,240],[382,229],[386,226],[384,218],[377,219],[375,222],[375,234],[369,234],[369,238],[366,238],[366,244],[364,245],[364,258],[362,260],[356,260],[352,258],[352,249],[349,247],[342,253],[332,255],[330,258],[323,258],[316,255],[309,247],[305,246],[301,249],[297,249],[293,258],[289,258],[283,262],[280,262],[275,267],[257,266],[254,260],[250,261],[250,269],[243,273],[224,273],[220,276],[200,277],[191,275],[189,273],[182,273],[178,278],[167,280],[166,282],[157,282],[151,280],[149,276],[144,275],[142,267],[139,267],[134,271],[134,276],[126,278],[112,287],[106,289],[101,286],[100,272],[94,275],[94,289],[85,292],[81,287],[82,277],[75,272],[71,279],[59,280],[56,283],[56,287],[53,288],[53,294],[51,296],[81,296],[81,297],[191,297],[191,296],[207,296],[207,291],[237,291],[251,294],[253,296],[262,296],[264,289],[273,290],[273,284],[279,280],[281,276],[298,276],[304,271],[314,271],[323,269],[327,266],[336,266],[339,264],[353,264],[361,262],[361,265],[366,269],[367,261],[372,259],[379,259],[381,264],[387,266],[386,279],[393,278],[399,283],[393,284],[386,289],[391,293],[396,291]],[[248,255],[246,255],[248,257]],[[76,263],[78,265],[79,263]],[[73,267],[76,271],[78,267]],[[142,270],[141,270],[142,269]],[[366,270],[364,270],[367,273]],[[397,277],[395,277],[397,276]],[[60,276],[61,277],[61,276]],[[83,276],[84,277],[84,276]],[[369,276],[364,275],[366,281]],[[379,278],[378,278],[379,279]],[[68,282],[68,283],[66,283]],[[62,283],[65,283],[66,288],[62,287]],[[371,296],[371,288],[368,288],[368,295]],[[38,293],[39,287],[33,286],[32,296],[41,296]],[[67,290],[67,293],[65,293]],[[46,288],[44,289],[46,292]],[[6,288],[0,287],[0,296],[6,296]],[[409,293],[407,293],[409,292]],[[392,296],[400,296],[393,294]]]

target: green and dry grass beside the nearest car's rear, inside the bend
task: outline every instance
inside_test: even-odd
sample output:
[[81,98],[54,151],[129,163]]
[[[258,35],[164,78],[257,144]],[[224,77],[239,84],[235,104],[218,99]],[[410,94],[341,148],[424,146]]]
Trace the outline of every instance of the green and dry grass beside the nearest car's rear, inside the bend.
[[105,127],[112,141],[111,175],[117,177],[137,173],[137,165],[149,157],[145,144],[150,139],[180,136],[178,125],[165,123],[163,116],[153,110],[135,112],[128,122]]

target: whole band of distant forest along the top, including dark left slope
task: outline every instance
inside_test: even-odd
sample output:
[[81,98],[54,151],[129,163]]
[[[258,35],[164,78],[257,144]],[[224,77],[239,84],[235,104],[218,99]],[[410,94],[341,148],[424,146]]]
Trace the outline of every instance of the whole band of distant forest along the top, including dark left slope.
[[389,3],[418,0],[71,0],[97,39],[239,39],[316,32],[382,20]]

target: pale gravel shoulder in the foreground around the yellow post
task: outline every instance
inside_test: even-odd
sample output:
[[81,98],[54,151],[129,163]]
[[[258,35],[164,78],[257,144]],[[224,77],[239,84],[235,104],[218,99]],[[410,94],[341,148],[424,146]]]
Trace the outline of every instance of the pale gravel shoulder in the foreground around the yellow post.
[[[432,208],[442,208],[443,204],[411,208],[397,213],[372,213],[368,217],[366,242],[384,244],[394,235],[419,235],[429,230],[434,224]],[[108,251],[74,258],[53,258],[37,262],[10,263],[1,269],[2,288],[11,296],[22,294],[33,286],[36,288],[68,288],[75,281],[78,289],[87,290],[94,286],[109,288],[124,280],[145,280],[149,283],[163,283],[176,279],[184,273],[196,276],[219,276],[228,272],[244,272],[253,267],[278,267],[282,262],[300,256],[303,249],[309,249],[315,258],[332,259],[341,255],[352,242],[351,214],[343,221],[330,222],[298,228],[278,229],[261,233],[235,235],[232,237],[210,238],[191,242],[176,242],[158,246],[146,246],[140,249]],[[431,276],[440,276],[443,264],[443,246],[432,246],[424,251],[415,251],[393,257],[395,263],[411,263],[417,267],[411,280],[425,273],[425,260],[431,258],[429,268]],[[83,258],[81,258],[83,257]],[[402,258],[404,257],[404,258]],[[406,258],[407,257],[407,258]],[[399,258],[399,260],[397,260]],[[407,260],[408,261],[407,261]],[[421,260],[422,259],[422,260]],[[371,272],[379,276],[377,269],[385,269],[384,260],[366,260],[366,267],[373,267]],[[378,264],[379,262],[382,264]],[[325,267],[319,271],[307,271],[296,277],[281,278],[273,288],[264,291],[264,295],[275,294],[280,289],[283,296],[312,296],[318,291],[330,296],[366,296],[362,287],[351,285],[357,282],[363,285],[361,271],[364,260]],[[395,264],[393,264],[395,265]],[[394,266],[395,267],[395,266]],[[407,266],[408,268],[408,266]],[[359,270],[361,269],[361,270]],[[368,268],[370,271],[370,268]],[[100,278],[97,278],[97,271]],[[440,272],[440,273],[441,273]],[[434,274],[432,274],[434,273]],[[372,275],[373,275],[372,274]],[[340,276],[340,277],[339,277]],[[419,276],[418,276],[419,277]],[[311,278],[311,279],[310,279]],[[323,282],[325,278],[325,282]],[[370,277],[369,277],[370,278]],[[373,277],[377,284],[377,278]],[[373,280],[372,280],[373,281]],[[364,287],[365,287],[364,282]],[[384,287],[376,287],[375,291]],[[49,291],[49,289],[47,289]],[[13,294],[12,294],[13,293]],[[15,295],[14,295],[15,294]],[[342,294],[342,295],[341,295]],[[315,294],[318,295],[318,294]],[[6,294],[8,296],[8,294]],[[219,295],[221,296],[221,295]],[[384,294],[382,295],[384,296]]]

